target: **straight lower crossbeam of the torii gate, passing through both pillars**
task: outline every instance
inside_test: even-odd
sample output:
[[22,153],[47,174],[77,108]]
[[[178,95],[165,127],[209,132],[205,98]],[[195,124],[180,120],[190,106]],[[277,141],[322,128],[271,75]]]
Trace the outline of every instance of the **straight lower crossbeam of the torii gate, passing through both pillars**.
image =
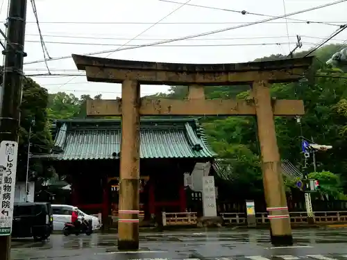
[[[87,116],[120,116],[121,99],[87,101]],[[139,114],[142,116],[255,116],[253,100],[228,99],[141,99]],[[295,116],[305,114],[303,101],[273,101],[275,116]]]

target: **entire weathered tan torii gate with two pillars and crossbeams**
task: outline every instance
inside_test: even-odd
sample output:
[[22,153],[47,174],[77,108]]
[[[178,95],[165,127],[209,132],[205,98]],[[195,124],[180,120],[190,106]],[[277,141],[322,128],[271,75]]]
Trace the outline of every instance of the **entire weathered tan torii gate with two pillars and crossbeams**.
[[[271,83],[303,78],[312,57],[238,64],[176,64],[72,55],[88,81],[121,83],[121,99],[87,102],[89,116],[122,116],[119,193],[120,250],[139,247],[140,116],[256,116],[266,207],[273,245],[292,245],[289,211],[273,116],[303,115],[303,101],[273,100]],[[187,100],[140,98],[140,84],[187,85]],[[205,99],[206,85],[251,85],[249,101]]]

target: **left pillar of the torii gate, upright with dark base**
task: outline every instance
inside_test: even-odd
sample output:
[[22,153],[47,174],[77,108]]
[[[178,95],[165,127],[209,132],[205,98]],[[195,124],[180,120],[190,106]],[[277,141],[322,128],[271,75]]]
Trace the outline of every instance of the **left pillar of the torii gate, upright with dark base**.
[[139,248],[139,83],[121,83],[118,249]]

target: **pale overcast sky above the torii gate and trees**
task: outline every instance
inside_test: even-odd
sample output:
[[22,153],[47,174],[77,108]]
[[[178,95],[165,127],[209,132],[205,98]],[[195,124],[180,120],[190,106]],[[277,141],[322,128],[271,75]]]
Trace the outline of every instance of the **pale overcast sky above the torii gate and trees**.
[[[146,28],[169,15],[170,12],[187,0],[172,1],[181,2],[181,4],[160,0],[36,0],[35,3],[40,28],[49,55],[52,58],[56,58],[71,55],[71,53],[84,54],[117,49],[136,35],[139,35],[139,33],[142,33]],[[191,0],[189,4],[280,16],[284,15],[285,12],[288,14],[332,2],[331,0]],[[5,21],[7,10],[8,0],[3,0],[0,12],[1,21]],[[346,10],[347,1],[289,18],[323,21],[339,25],[347,23]],[[228,10],[214,10],[212,8],[185,5],[162,20],[162,23],[169,24],[157,24],[128,44],[148,44],[150,42],[238,26],[266,18],[268,17],[251,14],[242,15],[241,13]],[[42,60],[42,46],[30,0],[28,0],[27,22],[25,51],[28,53],[28,57],[24,59],[24,62]],[[4,26],[2,28],[3,30],[5,29]],[[303,42],[302,50],[310,49],[315,44],[321,42],[322,39],[319,38],[328,38],[337,28],[338,26],[305,24],[304,22],[290,19],[287,20],[286,24],[285,19],[277,19],[272,22],[198,37],[194,40],[117,51],[98,56],[105,57],[110,54],[108,58],[152,62],[248,62],[255,58],[276,53],[287,55],[295,47],[296,35],[301,35]],[[341,44],[344,40],[347,40],[347,30],[337,35],[335,40],[329,43]],[[244,44],[249,45],[246,46]],[[51,73],[82,73],[76,70],[71,58],[53,60],[47,62],[47,64],[49,69],[51,69]],[[24,71],[26,75],[47,73],[44,62],[26,64],[24,65]],[[67,92],[76,96],[81,96],[81,94],[90,94],[91,96],[102,94],[103,98],[115,98],[120,95],[121,91],[120,85],[117,84],[87,83],[85,76],[35,76],[32,78],[42,87],[49,89],[51,93]],[[165,92],[167,89],[168,87],[165,86],[142,85],[142,96],[156,92]]]

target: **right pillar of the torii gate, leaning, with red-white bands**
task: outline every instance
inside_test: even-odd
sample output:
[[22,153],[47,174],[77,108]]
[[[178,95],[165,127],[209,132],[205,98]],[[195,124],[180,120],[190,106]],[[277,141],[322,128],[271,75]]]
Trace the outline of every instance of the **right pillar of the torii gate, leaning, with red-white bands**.
[[255,81],[252,86],[257,118],[257,135],[262,158],[266,210],[269,212],[268,218],[271,225],[271,243],[278,246],[293,245],[270,87],[271,85],[265,80]]

